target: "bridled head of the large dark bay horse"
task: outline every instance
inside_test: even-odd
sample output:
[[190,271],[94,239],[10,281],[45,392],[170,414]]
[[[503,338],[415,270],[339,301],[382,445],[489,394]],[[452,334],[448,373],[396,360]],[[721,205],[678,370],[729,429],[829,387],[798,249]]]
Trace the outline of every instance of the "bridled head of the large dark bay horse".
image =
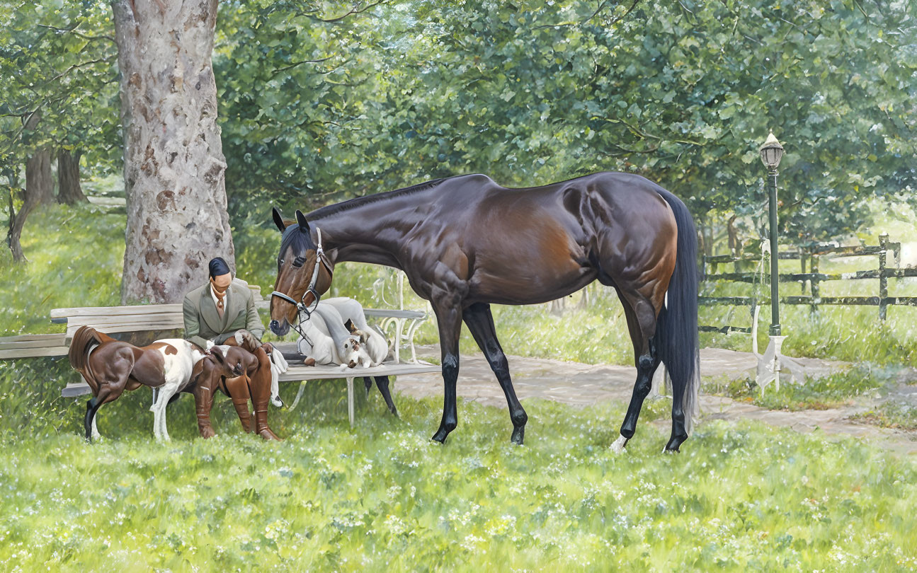
[[296,320],[296,304],[309,308],[317,303],[317,297],[331,288],[334,269],[325,256],[319,258],[320,248],[312,238],[305,215],[296,211],[295,223],[285,221],[274,207],[273,216],[282,238],[277,255],[277,281],[271,296],[271,331],[284,336]]

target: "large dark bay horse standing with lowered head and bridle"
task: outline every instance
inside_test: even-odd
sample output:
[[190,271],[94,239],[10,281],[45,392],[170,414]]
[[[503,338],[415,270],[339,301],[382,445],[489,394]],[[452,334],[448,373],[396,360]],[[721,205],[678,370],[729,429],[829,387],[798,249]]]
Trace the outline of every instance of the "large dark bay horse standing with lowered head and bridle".
[[[614,287],[631,339],[637,378],[624,415],[621,450],[635,432],[653,374],[672,381],[672,434],[678,451],[697,412],[699,383],[697,238],[687,207],[639,175],[602,172],[567,182],[508,189],[485,175],[425,182],[296,212],[284,221],[271,330],[290,330],[331,284],[334,265],[351,260],[403,270],[433,306],[442,349],[445,399],[433,439],[458,424],[458,337],[464,321],[503,387],[522,444],[528,417],[513,389],[491,304],[546,303],[591,281]],[[320,229],[320,234],[319,234]],[[321,238],[321,245],[317,242]],[[324,252],[320,257],[318,253]],[[316,268],[316,265],[318,267]]]

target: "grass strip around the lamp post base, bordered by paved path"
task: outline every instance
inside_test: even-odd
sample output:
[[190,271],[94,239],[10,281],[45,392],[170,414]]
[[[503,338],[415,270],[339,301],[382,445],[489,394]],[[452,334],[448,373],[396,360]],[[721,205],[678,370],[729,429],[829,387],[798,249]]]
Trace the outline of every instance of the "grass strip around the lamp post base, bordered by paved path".
[[820,378],[793,384],[783,377],[779,390],[770,384],[765,391],[753,379],[740,378],[705,383],[706,391],[754,403],[768,410],[826,410],[850,403],[857,396],[878,397],[895,384],[895,369],[859,365]]

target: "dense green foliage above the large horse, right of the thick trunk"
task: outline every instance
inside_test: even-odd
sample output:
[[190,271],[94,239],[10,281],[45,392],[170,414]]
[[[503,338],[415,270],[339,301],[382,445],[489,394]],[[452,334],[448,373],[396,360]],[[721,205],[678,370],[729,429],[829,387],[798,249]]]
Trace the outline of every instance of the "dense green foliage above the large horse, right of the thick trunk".
[[398,2],[334,22],[302,6],[246,3],[221,28],[240,214],[261,190],[303,206],[470,171],[531,185],[617,170],[704,226],[763,221],[768,128],[788,145],[796,240],[863,225],[865,201],[917,178],[905,4]]

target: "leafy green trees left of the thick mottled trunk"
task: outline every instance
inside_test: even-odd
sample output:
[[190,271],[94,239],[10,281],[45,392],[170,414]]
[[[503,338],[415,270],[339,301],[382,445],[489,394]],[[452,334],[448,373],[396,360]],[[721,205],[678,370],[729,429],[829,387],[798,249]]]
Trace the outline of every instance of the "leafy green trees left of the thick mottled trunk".
[[[19,237],[29,212],[55,200],[54,160],[61,182],[57,200],[63,203],[85,200],[79,176],[82,155],[93,162],[94,172],[104,172],[113,160],[115,43],[99,33],[110,28],[105,2],[17,2],[3,7],[0,157],[13,198],[7,206],[7,244],[14,259],[24,260]],[[17,165],[25,166],[25,185]]]

